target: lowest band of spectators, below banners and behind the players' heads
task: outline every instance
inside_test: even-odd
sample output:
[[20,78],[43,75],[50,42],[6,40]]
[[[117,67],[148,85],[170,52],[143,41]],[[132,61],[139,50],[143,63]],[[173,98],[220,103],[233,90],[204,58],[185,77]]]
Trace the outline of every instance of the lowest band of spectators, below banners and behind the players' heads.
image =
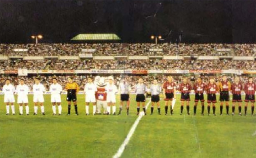
[[[80,90],[84,90],[84,86],[88,81],[88,77],[92,77],[94,79],[95,76],[96,75],[92,75],[92,74],[75,75],[75,76],[72,75],[73,81],[78,83]],[[162,75],[162,74],[161,75],[125,75],[125,76],[122,76],[120,74],[114,74],[114,75],[111,75],[111,76],[114,77],[114,84],[116,84],[117,86],[119,86],[121,79],[126,78],[126,80],[130,82],[132,90],[134,90],[134,87],[137,84],[139,78],[142,78],[144,83],[149,86],[149,85],[152,84],[152,81],[154,79],[157,79],[159,84],[163,84],[165,81],[167,81],[167,77],[168,77],[166,74],[165,75]],[[7,75],[2,75],[0,77],[1,77],[1,79],[0,79],[0,88],[2,89],[3,85],[5,85],[5,80],[6,79],[10,79],[12,84],[14,84],[16,86],[16,85],[18,85],[18,82],[21,78],[23,78],[25,80],[25,83],[30,88],[32,88],[33,84],[34,84],[34,79],[35,79],[35,77],[38,77],[38,76],[17,76],[17,75],[7,76]],[[57,77],[58,83],[62,85],[63,89],[65,89],[67,79],[68,79],[68,77],[70,77],[70,75],[58,75],[58,76],[41,75],[40,76],[41,83],[44,84],[44,86],[46,87],[46,90],[49,90],[49,87],[52,84],[52,78],[53,77]],[[102,74],[101,77],[105,77],[107,79],[109,77],[109,75]],[[199,77],[199,76],[195,76],[193,74],[191,76],[182,76],[182,75],[177,76],[177,75],[175,75],[175,76],[173,76],[173,78],[174,78],[174,82],[177,84],[177,86],[182,82],[183,77],[187,77],[189,79],[189,83],[193,85],[194,82],[196,81],[197,77]],[[221,81],[221,76],[216,76],[214,74],[212,74],[212,75],[206,74],[206,75],[203,75],[201,77],[202,77],[203,81],[206,82],[206,83],[209,82],[210,77],[214,77],[216,82]],[[235,78],[235,76],[228,76],[228,80],[230,82],[233,82],[234,78]],[[242,83],[245,83],[245,82],[247,82],[248,76],[241,76],[240,79],[241,79]],[[255,80],[254,80],[254,82],[255,82]]]

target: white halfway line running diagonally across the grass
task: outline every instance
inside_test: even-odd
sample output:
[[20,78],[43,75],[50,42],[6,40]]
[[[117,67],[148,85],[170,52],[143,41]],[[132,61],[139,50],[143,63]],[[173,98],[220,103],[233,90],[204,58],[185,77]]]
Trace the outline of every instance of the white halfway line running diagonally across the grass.
[[[149,104],[151,103],[151,100],[147,103],[146,105],[146,109],[148,108]],[[125,150],[127,144],[129,143],[131,137],[133,136],[135,129],[137,128],[137,125],[140,122],[140,119],[144,116],[142,113],[144,112],[140,112],[139,117],[136,119],[136,121],[134,122],[133,126],[131,127],[128,135],[126,136],[125,140],[123,141],[123,144],[119,147],[119,149],[117,150],[116,154],[113,156],[113,158],[119,158],[123,151]]]

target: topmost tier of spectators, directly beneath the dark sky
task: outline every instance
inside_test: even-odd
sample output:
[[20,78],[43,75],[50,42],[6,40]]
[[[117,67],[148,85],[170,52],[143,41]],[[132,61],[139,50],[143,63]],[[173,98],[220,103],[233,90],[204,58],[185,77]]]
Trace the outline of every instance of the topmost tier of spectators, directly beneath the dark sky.
[[[27,50],[24,52],[14,49]],[[93,55],[112,56],[256,56],[256,44],[172,44],[172,43],[43,43],[0,44],[1,56],[78,56],[82,50]],[[94,51],[95,50],[95,51]],[[221,50],[221,51],[219,51]],[[227,51],[225,51],[227,50]]]

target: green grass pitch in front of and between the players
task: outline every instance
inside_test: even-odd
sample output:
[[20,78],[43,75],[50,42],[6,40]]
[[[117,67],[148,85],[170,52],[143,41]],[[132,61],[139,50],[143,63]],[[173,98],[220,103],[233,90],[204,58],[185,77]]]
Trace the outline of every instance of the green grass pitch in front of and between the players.
[[[186,108],[180,115],[180,96],[177,97],[174,115],[163,115],[164,102],[161,100],[162,115],[158,115],[155,108],[154,115],[142,117],[121,157],[256,157],[256,135],[253,135],[256,131],[255,116],[239,116],[238,107],[234,116],[219,116],[219,103],[216,116],[201,116],[200,106],[196,116],[186,115]],[[73,107],[72,115],[66,116],[67,103],[65,96],[62,96],[62,115],[52,116],[50,95],[45,95],[46,115],[34,116],[30,95],[30,115],[20,116],[16,103],[16,115],[5,115],[1,95],[0,157],[112,157],[137,119],[134,98],[134,95],[131,96],[129,116],[124,111],[119,116],[86,116],[84,96],[79,95],[79,116],[74,114]],[[193,95],[191,100],[194,100]],[[117,105],[118,109],[119,102]],[[190,113],[193,113],[193,106],[194,101],[191,101]],[[150,106],[147,112],[150,113]],[[248,114],[250,112],[249,107]]]

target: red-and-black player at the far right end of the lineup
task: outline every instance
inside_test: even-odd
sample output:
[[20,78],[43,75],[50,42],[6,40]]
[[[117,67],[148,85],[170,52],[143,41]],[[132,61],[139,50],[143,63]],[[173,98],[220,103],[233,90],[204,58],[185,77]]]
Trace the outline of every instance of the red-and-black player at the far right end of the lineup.
[[253,83],[253,77],[249,77],[248,82],[244,85],[244,92],[245,92],[244,115],[247,114],[248,102],[251,102],[251,115],[253,115],[254,102],[255,102],[255,90],[256,90],[256,84]]

